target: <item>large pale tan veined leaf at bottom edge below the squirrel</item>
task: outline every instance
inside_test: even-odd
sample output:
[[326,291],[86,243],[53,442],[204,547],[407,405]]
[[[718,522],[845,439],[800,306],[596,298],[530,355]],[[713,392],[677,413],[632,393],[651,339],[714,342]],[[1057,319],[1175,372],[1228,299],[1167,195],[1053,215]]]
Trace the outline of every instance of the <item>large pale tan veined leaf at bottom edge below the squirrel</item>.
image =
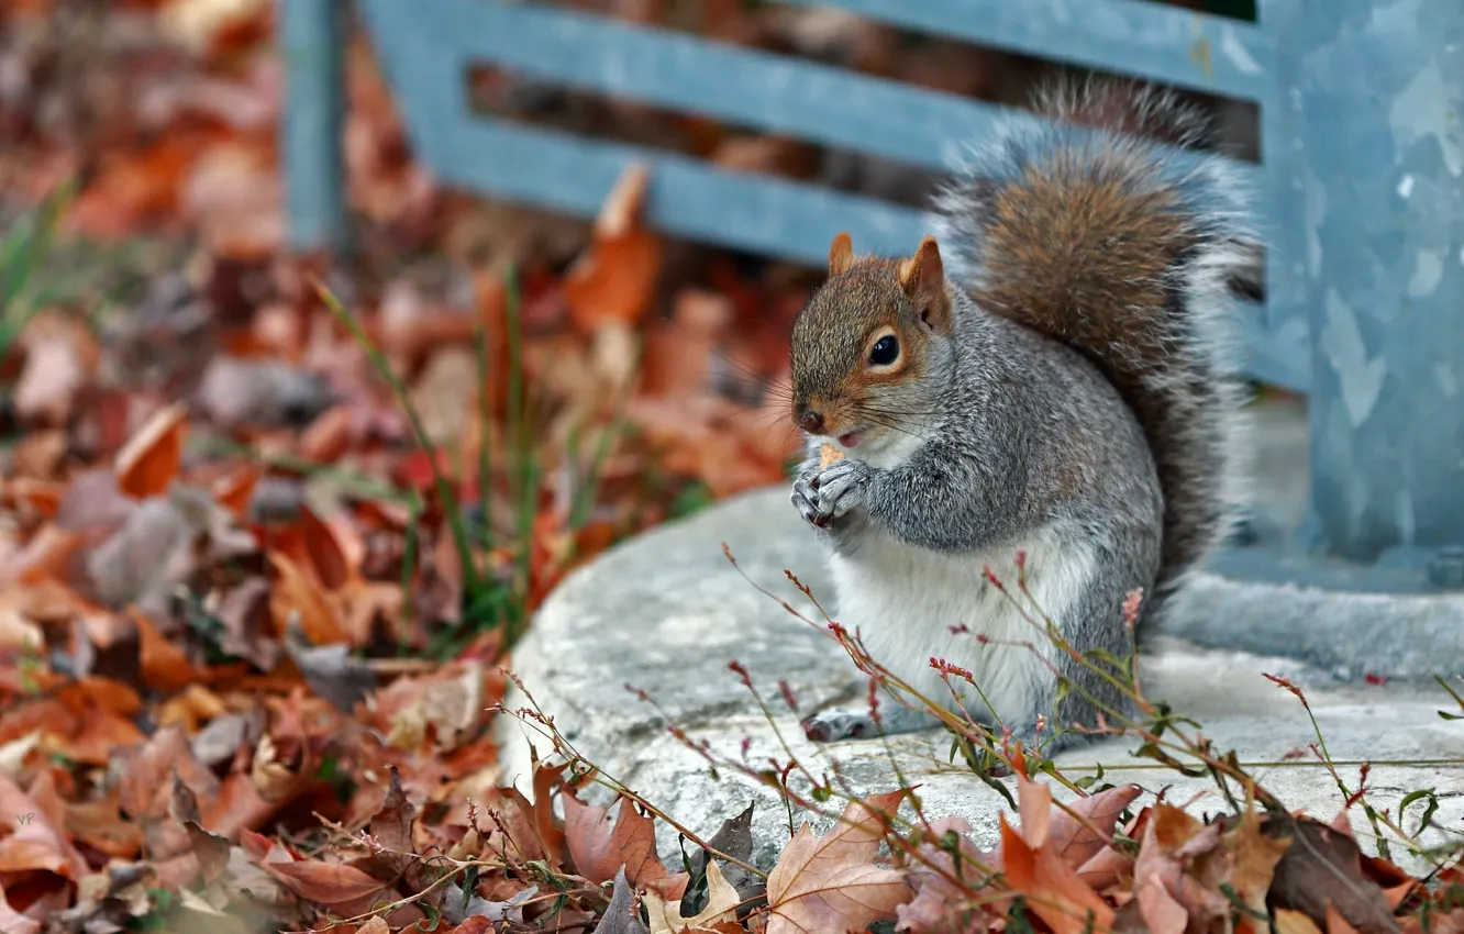
[[874,864],[903,791],[851,801],[823,837],[804,823],[767,877],[769,934],[864,930],[915,894],[900,870]]

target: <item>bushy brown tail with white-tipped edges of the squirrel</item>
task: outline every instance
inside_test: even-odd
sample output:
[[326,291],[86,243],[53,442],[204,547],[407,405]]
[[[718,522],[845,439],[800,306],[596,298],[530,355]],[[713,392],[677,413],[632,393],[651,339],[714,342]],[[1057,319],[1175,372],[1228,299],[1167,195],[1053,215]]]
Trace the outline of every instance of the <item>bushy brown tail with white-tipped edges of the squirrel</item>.
[[934,233],[978,305],[1085,353],[1138,416],[1164,490],[1142,637],[1228,531],[1239,384],[1227,324],[1259,246],[1239,179],[1193,151],[1206,139],[1196,110],[1129,83],[1063,85],[1041,104],[1050,126],[1015,120],[972,151],[935,198]]

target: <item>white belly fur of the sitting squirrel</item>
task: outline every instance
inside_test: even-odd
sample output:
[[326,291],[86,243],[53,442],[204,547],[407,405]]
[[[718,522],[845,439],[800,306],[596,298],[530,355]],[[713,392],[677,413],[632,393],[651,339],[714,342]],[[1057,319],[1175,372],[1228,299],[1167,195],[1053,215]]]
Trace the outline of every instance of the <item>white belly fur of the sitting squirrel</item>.
[[[969,684],[952,676],[968,713],[991,722],[994,709],[1009,726],[1031,725],[1038,713],[1048,713],[1038,706],[1048,703],[1056,681],[1045,663],[1057,649],[1044,632],[1044,613],[1061,631],[1092,580],[1095,556],[1080,540],[1044,527],[1022,542],[953,553],[870,531],[854,555],[832,556],[834,618],[851,634],[858,631],[870,656],[925,698],[953,707],[950,690],[930,666],[931,657],[944,659],[968,669],[985,694],[982,701]],[[1026,552],[1031,597],[1017,583],[1017,549]],[[985,580],[982,565],[991,567],[1006,594]],[[950,631],[962,624],[966,632]],[[1032,647],[981,644],[979,634]]]

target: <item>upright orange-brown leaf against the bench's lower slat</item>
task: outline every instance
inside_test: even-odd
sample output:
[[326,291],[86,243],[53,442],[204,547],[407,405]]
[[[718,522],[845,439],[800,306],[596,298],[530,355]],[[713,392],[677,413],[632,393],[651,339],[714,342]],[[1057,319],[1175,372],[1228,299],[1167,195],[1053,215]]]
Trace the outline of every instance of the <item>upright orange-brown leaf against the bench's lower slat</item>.
[[594,239],[564,280],[574,324],[593,331],[605,324],[635,324],[650,307],[665,246],[643,221],[649,173],[631,165],[594,223]]

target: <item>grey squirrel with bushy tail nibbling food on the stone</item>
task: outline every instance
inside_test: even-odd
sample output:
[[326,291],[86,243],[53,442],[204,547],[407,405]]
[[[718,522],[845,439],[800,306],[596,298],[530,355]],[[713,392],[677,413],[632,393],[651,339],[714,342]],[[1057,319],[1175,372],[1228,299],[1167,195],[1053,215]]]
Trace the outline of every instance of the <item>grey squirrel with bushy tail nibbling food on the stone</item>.
[[[941,183],[912,256],[834,237],[792,331],[792,502],[875,662],[953,713],[937,663],[968,670],[979,691],[950,678],[966,713],[1051,754],[1132,701],[1045,621],[1098,666],[1142,653],[1230,531],[1228,324],[1259,246],[1173,92],[1091,81],[1037,104],[1050,122],[1012,122]],[[902,704],[802,723],[817,741],[935,725]]]

